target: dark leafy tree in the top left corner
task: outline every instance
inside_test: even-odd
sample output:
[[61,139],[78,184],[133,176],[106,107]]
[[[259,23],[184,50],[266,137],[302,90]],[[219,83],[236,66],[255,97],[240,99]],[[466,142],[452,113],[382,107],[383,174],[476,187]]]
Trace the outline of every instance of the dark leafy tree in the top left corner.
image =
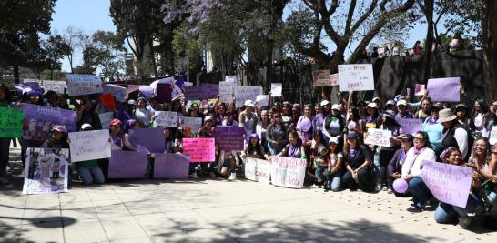
[[19,66],[34,65],[40,54],[39,34],[50,33],[55,2],[0,1],[0,66],[13,66],[16,83]]

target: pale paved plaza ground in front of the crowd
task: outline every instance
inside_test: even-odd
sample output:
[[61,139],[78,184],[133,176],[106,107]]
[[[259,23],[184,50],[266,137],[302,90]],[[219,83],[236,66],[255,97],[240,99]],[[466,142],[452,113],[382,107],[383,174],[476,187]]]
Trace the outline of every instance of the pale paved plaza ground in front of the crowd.
[[386,192],[323,192],[246,180],[133,180],[22,195],[19,151],[1,187],[0,242],[497,242],[439,225]]

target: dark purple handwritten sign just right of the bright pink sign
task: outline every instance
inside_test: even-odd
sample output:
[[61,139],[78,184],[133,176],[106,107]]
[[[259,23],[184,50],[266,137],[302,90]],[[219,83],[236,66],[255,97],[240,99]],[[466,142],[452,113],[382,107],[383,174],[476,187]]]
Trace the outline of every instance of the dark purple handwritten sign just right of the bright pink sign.
[[213,136],[218,147],[225,151],[243,150],[245,128],[233,126],[214,127]]

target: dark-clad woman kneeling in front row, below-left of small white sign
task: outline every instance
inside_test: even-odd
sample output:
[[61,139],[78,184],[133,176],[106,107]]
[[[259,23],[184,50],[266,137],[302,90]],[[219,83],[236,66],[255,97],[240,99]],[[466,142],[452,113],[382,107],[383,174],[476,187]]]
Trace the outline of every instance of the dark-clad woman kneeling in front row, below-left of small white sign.
[[350,190],[370,191],[370,149],[361,145],[358,135],[347,134],[347,143],[343,147],[343,158],[347,171],[341,178],[343,185]]

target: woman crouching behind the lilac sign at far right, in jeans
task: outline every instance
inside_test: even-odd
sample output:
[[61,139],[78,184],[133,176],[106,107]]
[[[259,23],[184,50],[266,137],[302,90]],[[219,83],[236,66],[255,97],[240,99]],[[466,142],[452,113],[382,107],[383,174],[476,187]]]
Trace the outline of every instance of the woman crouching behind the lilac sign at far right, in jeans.
[[[462,160],[461,152],[459,151],[459,149],[454,147],[445,149],[441,153],[441,160],[443,160],[443,162],[446,164],[460,167],[465,166],[464,161]],[[457,220],[462,228],[468,228],[471,223],[471,218],[468,217],[468,213],[480,214],[485,211],[482,200],[474,193],[474,188],[481,186],[478,177],[478,172],[473,171],[472,190],[470,190],[466,208],[461,208],[448,203],[440,202],[439,206],[435,210],[435,221],[437,221],[437,223],[451,223]]]

